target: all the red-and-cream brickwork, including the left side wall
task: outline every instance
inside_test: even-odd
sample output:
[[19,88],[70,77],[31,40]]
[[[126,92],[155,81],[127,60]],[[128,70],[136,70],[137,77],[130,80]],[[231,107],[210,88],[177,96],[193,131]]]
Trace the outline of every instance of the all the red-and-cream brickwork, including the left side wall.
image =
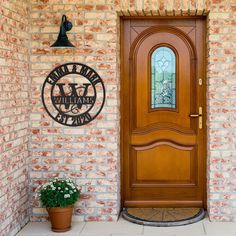
[[[0,21],[7,22],[0,25],[3,32],[0,35],[0,150],[3,156],[0,184],[5,186],[0,204],[6,202],[7,195],[12,199],[4,204],[4,207],[10,205],[11,211],[1,208],[4,209],[0,213],[1,227],[7,228],[4,232],[13,229],[17,222],[24,222],[21,219],[27,219],[27,214],[21,211],[27,208],[24,202],[27,201],[28,164],[32,221],[46,218],[44,208],[35,198],[35,188],[59,174],[74,178],[82,186],[82,198],[74,215],[76,220],[117,218],[120,208],[119,16],[129,15],[208,14],[208,210],[211,220],[236,221],[235,0],[31,0],[29,22],[27,1],[0,1]],[[50,48],[63,14],[74,25],[68,33],[76,46],[74,49]],[[106,86],[105,106],[97,119],[86,126],[62,126],[49,118],[42,106],[40,94],[46,76],[55,66],[66,62],[91,66]],[[27,143],[31,152],[29,163]],[[16,206],[17,211],[21,210],[12,214]]]

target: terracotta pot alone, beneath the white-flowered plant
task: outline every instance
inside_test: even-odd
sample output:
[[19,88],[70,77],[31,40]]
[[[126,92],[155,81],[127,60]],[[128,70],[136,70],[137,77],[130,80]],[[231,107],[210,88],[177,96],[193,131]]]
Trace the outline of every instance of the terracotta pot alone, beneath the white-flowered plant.
[[52,231],[66,232],[71,228],[71,218],[74,206],[47,208]]

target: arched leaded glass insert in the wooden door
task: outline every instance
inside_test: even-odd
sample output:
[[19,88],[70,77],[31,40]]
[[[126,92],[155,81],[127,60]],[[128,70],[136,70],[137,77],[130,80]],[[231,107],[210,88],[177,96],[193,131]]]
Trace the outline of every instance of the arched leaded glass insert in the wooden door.
[[176,108],[176,56],[168,47],[151,56],[151,108]]

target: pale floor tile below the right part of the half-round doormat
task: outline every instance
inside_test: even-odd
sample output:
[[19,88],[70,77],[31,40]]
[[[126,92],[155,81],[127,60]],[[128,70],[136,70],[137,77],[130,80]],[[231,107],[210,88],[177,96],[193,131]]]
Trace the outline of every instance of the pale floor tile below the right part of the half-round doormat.
[[144,226],[144,235],[146,234],[174,234],[174,235],[204,235],[204,228],[202,222],[194,223],[191,225],[177,226],[177,227],[150,227]]

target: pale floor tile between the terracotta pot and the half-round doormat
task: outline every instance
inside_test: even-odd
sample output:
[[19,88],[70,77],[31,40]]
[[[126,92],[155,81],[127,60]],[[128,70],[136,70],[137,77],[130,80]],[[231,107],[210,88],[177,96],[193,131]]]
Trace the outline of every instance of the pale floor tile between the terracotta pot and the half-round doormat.
[[143,226],[123,219],[118,222],[87,222],[81,234],[142,234]]

